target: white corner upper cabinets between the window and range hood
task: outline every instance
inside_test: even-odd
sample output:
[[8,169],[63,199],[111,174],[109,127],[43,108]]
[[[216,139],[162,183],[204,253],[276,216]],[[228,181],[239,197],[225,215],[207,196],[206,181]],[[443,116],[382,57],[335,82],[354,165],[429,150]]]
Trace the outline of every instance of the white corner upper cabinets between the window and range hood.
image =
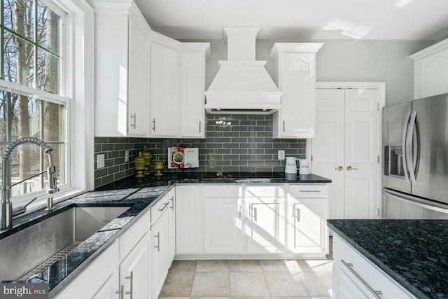
[[93,1],[95,136],[204,138],[209,43],[153,32],[133,1]]

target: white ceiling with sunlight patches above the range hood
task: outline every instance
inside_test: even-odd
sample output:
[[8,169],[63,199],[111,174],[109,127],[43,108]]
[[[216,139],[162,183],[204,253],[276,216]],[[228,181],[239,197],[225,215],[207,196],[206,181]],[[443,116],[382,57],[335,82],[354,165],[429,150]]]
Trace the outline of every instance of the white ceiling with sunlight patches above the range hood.
[[258,39],[407,39],[448,36],[448,0],[135,0],[174,39],[223,39],[225,26]]

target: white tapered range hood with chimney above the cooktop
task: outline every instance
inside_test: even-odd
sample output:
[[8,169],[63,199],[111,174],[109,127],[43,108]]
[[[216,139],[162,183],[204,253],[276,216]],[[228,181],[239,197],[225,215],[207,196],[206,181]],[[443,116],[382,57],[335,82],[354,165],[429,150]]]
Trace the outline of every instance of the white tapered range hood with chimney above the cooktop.
[[255,41],[260,27],[224,27],[228,60],[205,92],[208,113],[270,114],[281,108],[281,92],[265,69],[255,61]]

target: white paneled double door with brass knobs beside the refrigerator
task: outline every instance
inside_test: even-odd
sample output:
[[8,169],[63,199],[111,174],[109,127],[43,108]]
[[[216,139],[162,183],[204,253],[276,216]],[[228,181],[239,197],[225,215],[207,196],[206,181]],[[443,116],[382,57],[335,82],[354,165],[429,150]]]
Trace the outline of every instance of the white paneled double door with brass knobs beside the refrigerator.
[[312,171],[332,180],[330,218],[376,218],[379,209],[380,90],[316,93]]

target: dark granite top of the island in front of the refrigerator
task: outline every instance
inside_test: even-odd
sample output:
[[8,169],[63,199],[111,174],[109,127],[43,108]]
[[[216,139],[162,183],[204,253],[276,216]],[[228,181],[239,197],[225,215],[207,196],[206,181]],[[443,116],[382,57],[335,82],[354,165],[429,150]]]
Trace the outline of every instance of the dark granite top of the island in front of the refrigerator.
[[328,220],[416,298],[448,298],[447,220]]

